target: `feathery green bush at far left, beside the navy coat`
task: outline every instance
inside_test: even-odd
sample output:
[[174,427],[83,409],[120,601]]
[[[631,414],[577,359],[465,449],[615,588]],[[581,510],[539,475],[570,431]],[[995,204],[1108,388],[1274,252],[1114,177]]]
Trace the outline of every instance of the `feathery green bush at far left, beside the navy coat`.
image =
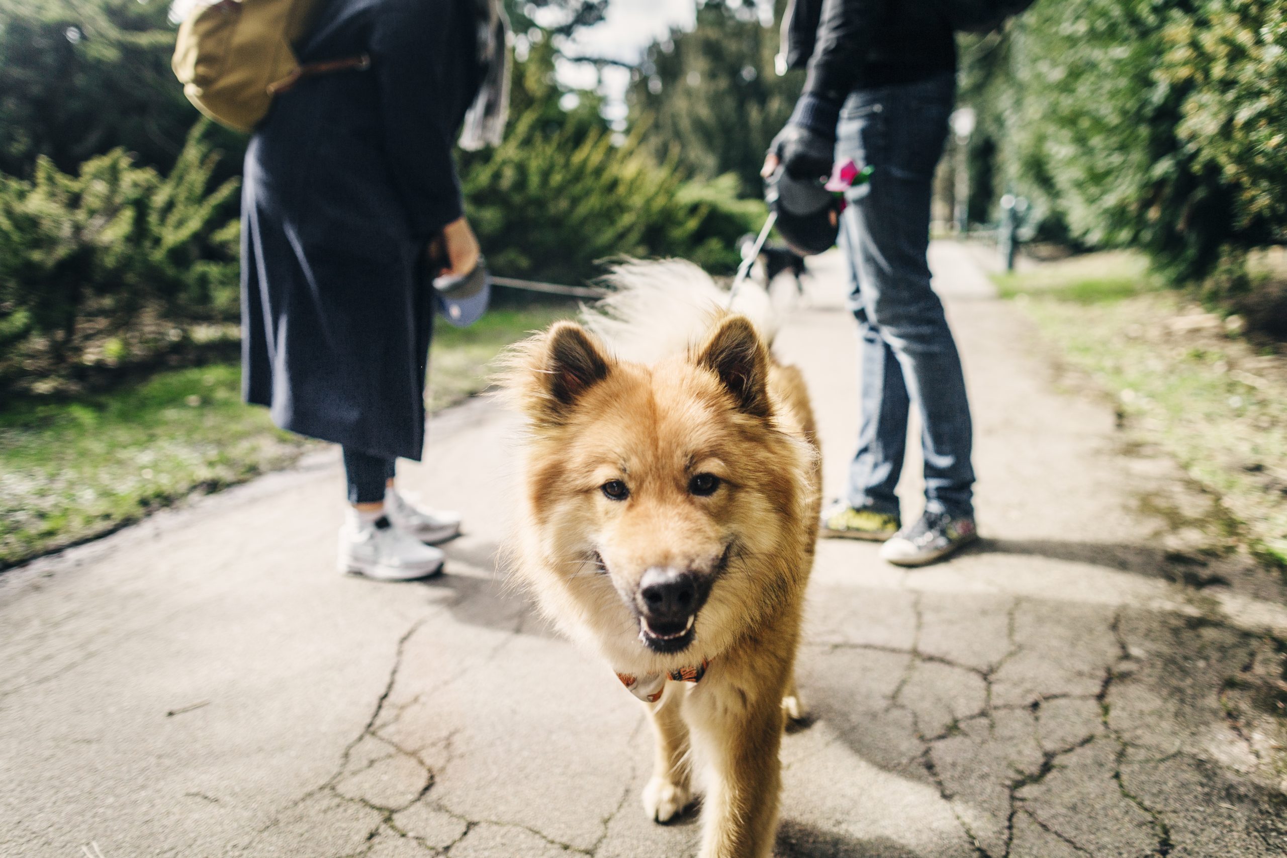
[[0,382],[82,363],[144,315],[169,329],[236,313],[237,181],[210,190],[203,127],[166,176],[124,149],[77,175],[45,157],[31,179],[0,175]]

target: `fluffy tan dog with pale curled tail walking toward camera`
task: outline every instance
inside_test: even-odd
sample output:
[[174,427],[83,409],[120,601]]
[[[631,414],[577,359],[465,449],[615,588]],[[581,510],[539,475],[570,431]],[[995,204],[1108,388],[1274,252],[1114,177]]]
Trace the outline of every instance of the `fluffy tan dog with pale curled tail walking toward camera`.
[[685,262],[614,279],[584,325],[511,355],[528,428],[516,572],[649,710],[646,813],[690,803],[695,762],[703,858],[768,855],[819,516],[808,395],[770,355],[762,291],[735,313]]

